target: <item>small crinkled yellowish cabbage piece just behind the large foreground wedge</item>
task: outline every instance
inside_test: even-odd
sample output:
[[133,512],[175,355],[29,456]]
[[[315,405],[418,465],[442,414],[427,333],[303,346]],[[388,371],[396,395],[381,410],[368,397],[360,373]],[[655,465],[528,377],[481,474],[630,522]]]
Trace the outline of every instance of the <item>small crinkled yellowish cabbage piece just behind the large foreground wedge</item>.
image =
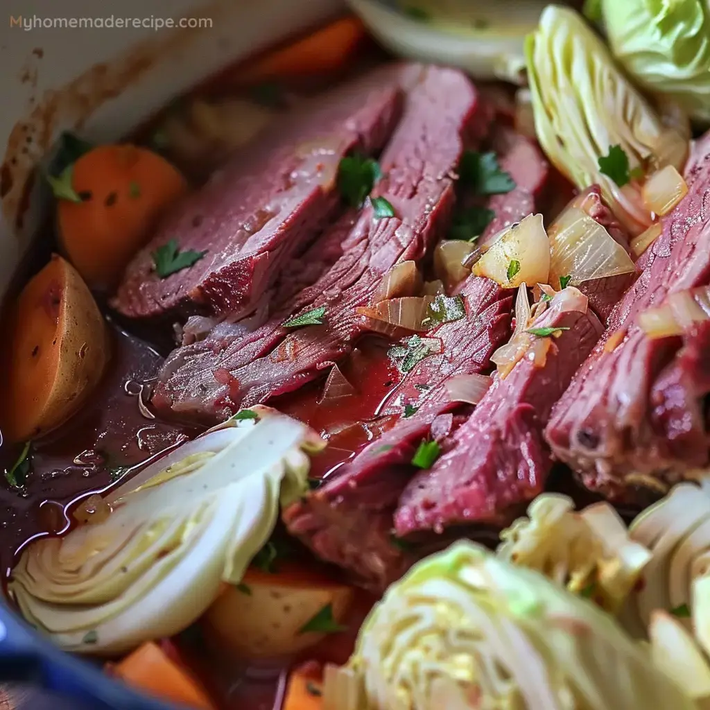
[[498,557],[537,569],[556,584],[616,613],[638,581],[651,554],[630,540],[626,525],[608,503],[579,513],[571,498],[542,493],[501,532]]

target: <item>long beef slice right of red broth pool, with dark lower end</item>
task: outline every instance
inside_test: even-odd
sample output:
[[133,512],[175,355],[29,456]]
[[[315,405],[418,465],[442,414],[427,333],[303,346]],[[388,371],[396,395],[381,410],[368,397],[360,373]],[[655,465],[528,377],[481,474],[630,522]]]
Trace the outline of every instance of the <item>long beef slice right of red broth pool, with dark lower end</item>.
[[466,317],[432,332],[442,351],[422,359],[405,374],[385,405],[401,412],[417,407],[369,444],[332,478],[284,512],[288,530],[318,557],[356,574],[361,584],[383,589],[413,562],[393,540],[393,513],[412,476],[417,445],[427,437],[445,440],[457,407],[445,382],[454,375],[481,373],[510,332],[509,292],[486,278],[471,276],[461,287]]

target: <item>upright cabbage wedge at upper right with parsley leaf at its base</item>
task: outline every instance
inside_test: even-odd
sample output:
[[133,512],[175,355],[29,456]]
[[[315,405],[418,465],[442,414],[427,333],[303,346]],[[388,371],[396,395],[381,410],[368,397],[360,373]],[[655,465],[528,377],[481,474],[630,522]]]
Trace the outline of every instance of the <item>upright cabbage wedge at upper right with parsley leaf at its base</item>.
[[638,183],[618,185],[601,172],[599,159],[620,149],[623,155],[617,156],[628,160],[631,175],[649,175],[665,165],[682,173],[687,133],[664,123],[571,9],[548,6],[525,53],[535,133],[545,153],[580,190],[599,184],[616,217],[632,235],[640,234],[652,215]]

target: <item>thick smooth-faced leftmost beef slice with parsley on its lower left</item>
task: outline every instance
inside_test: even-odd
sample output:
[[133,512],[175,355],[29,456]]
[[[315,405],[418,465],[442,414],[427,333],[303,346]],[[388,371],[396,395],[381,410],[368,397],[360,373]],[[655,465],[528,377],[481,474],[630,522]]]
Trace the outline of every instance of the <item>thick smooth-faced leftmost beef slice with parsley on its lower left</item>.
[[[248,312],[339,209],[341,158],[354,149],[375,153],[391,136],[401,112],[401,75],[378,70],[313,99],[236,153],[163,220],[129,264],[111,305],[129,317]],[[160,278],[151,255],[170,239],[180,251],[206,253]]]

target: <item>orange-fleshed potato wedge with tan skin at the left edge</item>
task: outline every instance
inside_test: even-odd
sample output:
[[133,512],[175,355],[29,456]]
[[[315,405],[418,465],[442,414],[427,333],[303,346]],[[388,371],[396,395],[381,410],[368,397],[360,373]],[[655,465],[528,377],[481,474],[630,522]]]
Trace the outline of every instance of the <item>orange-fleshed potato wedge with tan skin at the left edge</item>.
[[107,327],[80,275],[60,256],[33,276],[12,315],[4,431],[23,441],[65,422],[109,359]]

